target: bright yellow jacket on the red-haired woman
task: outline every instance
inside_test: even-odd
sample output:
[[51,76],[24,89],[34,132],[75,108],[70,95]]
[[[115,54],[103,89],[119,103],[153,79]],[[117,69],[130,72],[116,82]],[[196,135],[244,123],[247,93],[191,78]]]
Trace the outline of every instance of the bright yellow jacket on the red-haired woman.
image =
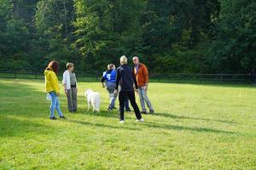
[[56,94],[60,93],[60,84],[58,78],[53,70],[44,71],[45,90],[47,93],[55,91]]

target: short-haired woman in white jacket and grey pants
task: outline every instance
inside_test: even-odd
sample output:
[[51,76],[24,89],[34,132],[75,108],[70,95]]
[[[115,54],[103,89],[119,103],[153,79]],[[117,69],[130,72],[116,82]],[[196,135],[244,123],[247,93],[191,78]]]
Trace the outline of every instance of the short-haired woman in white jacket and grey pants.
[[68,111],[71,113],[75,113],[78,108],[78,82],[73,70],[73,63],[67,63],[67,71],[63,73],[62,80],[65,89],[65,94],[67,95],[67,108]]

